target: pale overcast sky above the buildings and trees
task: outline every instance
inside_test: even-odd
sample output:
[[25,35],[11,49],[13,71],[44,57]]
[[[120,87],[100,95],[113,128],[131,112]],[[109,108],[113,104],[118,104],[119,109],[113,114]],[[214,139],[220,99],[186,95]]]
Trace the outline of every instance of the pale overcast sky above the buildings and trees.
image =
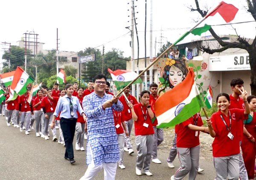
[[[189,6],[195,7],[194,0],[152,0],[153,1],[153,41],[174,42],[191,27],[195,26],[194,20],[200,20],[197,12],[190,12]],[[203,6],[212,9],[220,0],[199,0]],[[239,8],[239,12],[231,23],[253,20],[246,12],[245,0],[224,0],[233,3]],[[129,3],[129,4],[128,4]],[[203,3],[203,4],[202,4]],[[139,31],[140,58],[145,55],[144,29],[145,29],[145,0],[134,1]],[[149,24],[150,24],[150,0],[147,0],[147,56],[149,56]],[[128,11],[129,9],[129,11]],[[1,0],[0,1],[0,43],[7,42],[18,45],[24,37],[24,33],[38,34],[38,41],[44,44],[44,49],[56,49],[56,29],[58,28],[59,50],[78,52],[87,47],[96,47],[105,52],[112,48],[124,51],[124,56],[131,55],[129,41],[130,32],[125,29],[131,26],[131,0]],[[219,16],[209,17],[204,23],[210,25],[225,24]],[[204,23],[201,25],[203,26]],[[255,37],[255,22],[236,25],[214,26],[217,34],[236,34],[233,28],[241,36]],[[130,27],[131,28],[131,27]],[[248,30],[249,29],[249,30]],[[134,28],[135,30],[135,28]],[[135,33],[134,33],[135,35]],[[209,32],[202,36],[209,35]],[[162,38],[160,38],[162,37]],[[191,35],[180,43],[188,42],[199,36]],[[162,40],[162,41],[161,41]],[[137,39],[135,41],[135,58],[137,58]],[[0,46],[2,57],[3,48]],[[153,55],[155,52],[153,43]]]

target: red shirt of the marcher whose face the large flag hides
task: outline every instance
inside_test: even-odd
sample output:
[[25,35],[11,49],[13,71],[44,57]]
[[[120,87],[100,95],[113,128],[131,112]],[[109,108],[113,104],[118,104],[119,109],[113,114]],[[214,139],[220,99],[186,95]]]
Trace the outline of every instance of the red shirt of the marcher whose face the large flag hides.
[[200,144],[200,131],[193,131],[188,128],[188,125],[202,126],[204,125],[199,113],[196,113],[184,122],[177,125],[177,147],[192,148]]

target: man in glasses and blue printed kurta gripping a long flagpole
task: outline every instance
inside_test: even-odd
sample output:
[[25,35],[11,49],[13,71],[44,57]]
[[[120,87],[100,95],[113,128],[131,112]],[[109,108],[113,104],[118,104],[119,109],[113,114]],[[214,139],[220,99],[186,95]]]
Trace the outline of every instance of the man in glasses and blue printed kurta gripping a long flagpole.
[[116,163],[119,160],[119,149],[112,108],[122,111],[118,97],[105,93],[107,78],[96,75],[94,92],[84,96],[83,109],[87,116],[87,165],[88,168],[81,180],[91,180],[104,168],[105,180],[116,176]]

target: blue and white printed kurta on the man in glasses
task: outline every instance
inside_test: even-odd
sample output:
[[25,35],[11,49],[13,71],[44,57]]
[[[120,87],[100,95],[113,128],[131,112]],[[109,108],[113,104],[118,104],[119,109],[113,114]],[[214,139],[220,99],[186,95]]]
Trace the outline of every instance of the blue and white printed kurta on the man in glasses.
[[[95,92],[84,96],[82,105],[87,116],[88,132],[87,165],[92,160],[97,166],[103,163],[116,163],[119,160],[112,107],[117,111],[122,111],[123,106],[118,100],[116,104],[113,103],[112,107],[103,110],[102,104],[109,99],[112,99],[112,95],[105,94],[103,97],[100,97]],[[93,159],[90,148],[93,153]]]

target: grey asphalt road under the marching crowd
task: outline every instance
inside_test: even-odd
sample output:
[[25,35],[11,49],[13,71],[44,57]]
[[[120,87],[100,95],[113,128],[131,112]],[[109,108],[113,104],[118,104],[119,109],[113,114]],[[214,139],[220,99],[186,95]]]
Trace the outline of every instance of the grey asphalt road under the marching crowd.
[[[25,131],[20,132],[19,128],[8,127],[5,117],[0,116],[0,180],[79,180],[87,169],[86,151],[75,150],[76,163],[71,165],[64,159],[65,148],[63,145],[52,142],[51,138],[52,134],[50,140],[36,137],[35,130],[32,130],[29,135],[25,135]],[[135,144],[133,139],[132,142]],[[136,151],[133,155],[128,155],[125,152],[124,165],[126,168],[117,168],[116,180],[169,180],[179,168],[179,161],[176,158],[175,168],[168,168],[166,164],[168,154],[169,149],[159,151],[158,157],[162,164],[151,163],[150,171],[153,176],[139,177],[135,174]],[[200,167],[204,168],[204,172],[197,175],[197,180],[214,179],[215,171],[212,162],[201,157]],[[184,180],[187,179],[186,176]],[[103,169],[95,180],[104,180]]]

